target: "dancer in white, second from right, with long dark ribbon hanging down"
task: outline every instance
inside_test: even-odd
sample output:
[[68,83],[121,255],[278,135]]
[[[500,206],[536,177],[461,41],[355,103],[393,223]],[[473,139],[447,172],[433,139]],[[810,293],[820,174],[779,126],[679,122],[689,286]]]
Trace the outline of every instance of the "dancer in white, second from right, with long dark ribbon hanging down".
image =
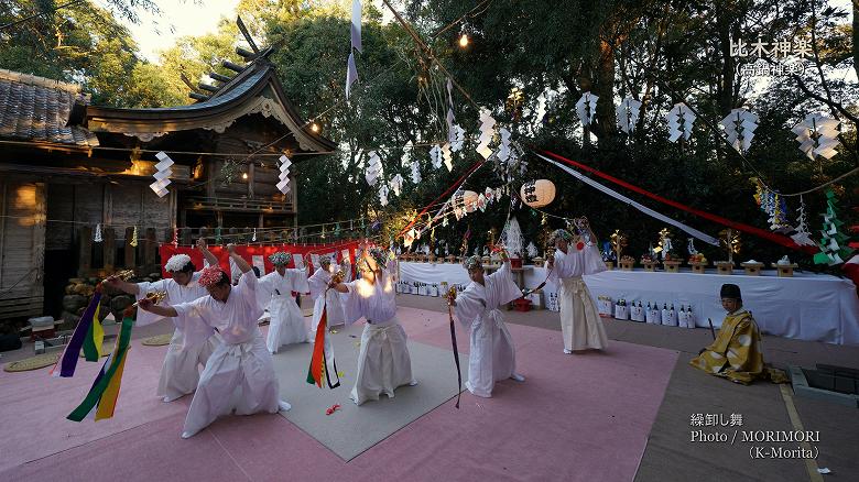
[[515,371],[513,339],[498,309],[521,298],[522,292],[513,283],[507,253],[502,252],[501,259],[503,264],[490,275],[483,273],[479,256],[466,260],[465,267],[471,283],[452,302],[456,317],[471,330],[466,387],[485,398],[492,396],[496,382],[507,379],[525,381]]

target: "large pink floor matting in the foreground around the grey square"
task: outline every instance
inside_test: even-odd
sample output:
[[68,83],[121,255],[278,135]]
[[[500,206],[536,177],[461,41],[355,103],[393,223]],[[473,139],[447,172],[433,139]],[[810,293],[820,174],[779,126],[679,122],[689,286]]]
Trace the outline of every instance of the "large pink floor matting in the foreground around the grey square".
[[[411,340],[449,347],[446,314],[401,308],[400,319]],[[0,453],[6,470],[0,469],[0,479],[632,480],[677,353],[615,341],[606,353],[565,355],[559,331],[509,328],[519,371],[528,377],[524,384],[502,382],[489,399],[466,392],[461,409],[447,402],[349,463],[276,415],[225,417],[193,439],[181,440],[185,407],[156,399],[150,407],[145,399],[126,398],[132,391],[140,390],[142,396],[149,390],[146,395],[153,399],[151,391],[157,379],[157,370],[153,370],[146,375],[151,381],[139,380],[143,377],[140,374],[131,382],[130,375],[143,370],[139,369],[142,363],[130,359],[129,366],[137,370],[126,375],[113,423],[137,428],[98,440],[90,428],[86,437],[63,445],[75,448],[30,463],[37,458],[32,448],[18,450],[8,460],[7,450],[15,443],[4,436]],[[457,336],[465,349],[467,338],[460,327]],[[140,355],[143,350],[135,347],[133,352]],[[4,374],[0,381],[0,403],[11,397],[7,383],[17,376],[28,375]],[[21,405],[37,404],[36,398],[44,399],[46,407],[63,405],[62,410],[53,409],[55,418],[45,424],[56,430],[70,394],[46,390],[53,380],[29,379],[15,381],[18,390],[13,392],[21,392]],[[91,376],[81,381],[88,384]],[[145,383],[148,388],[137,386]],[[76,402],[78,393],[72,392]],[[41,410],[41,416],[51,415],[47,408]],[[24,410],[15,413],[10,417],[4,410],[0,423],[10,428],[4,432],[19,440],[17,443],[31,439],[33,447],[42,448],[46,437],[56,438],[51,431],[36,436],[26,418],[21,418]],[[54,448],[42,448],[39,457],[55,453],[57,441],[51,445]]]

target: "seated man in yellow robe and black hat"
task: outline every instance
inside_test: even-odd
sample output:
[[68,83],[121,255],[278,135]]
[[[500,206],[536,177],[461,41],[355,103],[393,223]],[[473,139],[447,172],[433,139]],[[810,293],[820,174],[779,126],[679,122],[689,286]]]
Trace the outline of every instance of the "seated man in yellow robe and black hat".
[[761,332],[751,314],[742,308],[739,286],[721,285],[721,306],[728,316],[721,322],[719,335],[689,364],[742,384],[770,377],[763,365]]

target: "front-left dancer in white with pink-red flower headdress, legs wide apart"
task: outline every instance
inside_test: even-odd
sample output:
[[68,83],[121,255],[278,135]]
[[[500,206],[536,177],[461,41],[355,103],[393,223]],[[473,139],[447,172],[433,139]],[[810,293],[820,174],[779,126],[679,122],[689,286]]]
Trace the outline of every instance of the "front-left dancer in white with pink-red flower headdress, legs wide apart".
[[227,249],[242,273],[238,286],[231,286],[229,276],[215,265],[203,270],[199,278],[209,296],[173,307],[153,305],[149,299],[139,302],[144,310],[173,317],[185,333],[186,346],[203,343],[215,331],[224,339],[200,374],[182,438],[193,437],[233,410],[236,415],[250,415],[291,408],[280,401],[272,357],[257,326],[262,315],[257,277],[233,244]]

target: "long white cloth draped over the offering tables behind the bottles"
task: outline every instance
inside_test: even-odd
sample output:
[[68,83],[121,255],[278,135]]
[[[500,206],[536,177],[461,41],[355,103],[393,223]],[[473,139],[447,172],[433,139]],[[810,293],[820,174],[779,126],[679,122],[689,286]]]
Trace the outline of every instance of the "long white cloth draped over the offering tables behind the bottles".
[[[534,288],[546,278],[544,267],[525,266],[525,286]],[[529,269],[530,267],[530,269]],[[778,277],[774,271],[761,276],[664,273],[612,270],[585,276],[591,296],[623,298],[628,304],[641,300],[663,304],[679,310],[692,306],[698,327],[721,325],[725,310],[719,300],[724,283],[742,291],[743,306],[766,333],[800,340],[859,346],[859,298],[856,286],[847,278],[794,272],[793,277]],[[468,273],[459,264],[401,262],[400,276],[406,282],[468,283]],[[547,284],[544,293],[555,293]]]

